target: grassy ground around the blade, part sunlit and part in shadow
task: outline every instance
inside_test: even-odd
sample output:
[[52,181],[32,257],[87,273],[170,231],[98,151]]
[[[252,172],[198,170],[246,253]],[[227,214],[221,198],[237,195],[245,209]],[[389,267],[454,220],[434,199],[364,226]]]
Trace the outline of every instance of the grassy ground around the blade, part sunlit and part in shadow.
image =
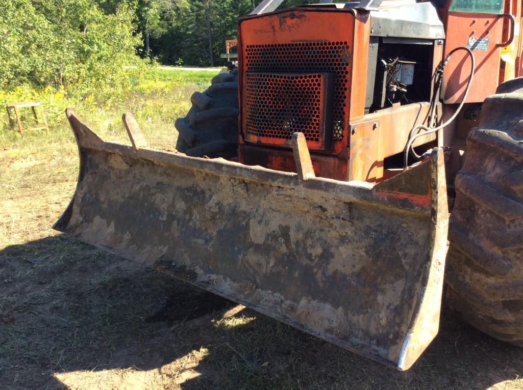
[[[134,112],[150,145],[172,149],[175,118],[212,75],[167,72],[136,83],[120,111],[78,113],[127,142],[121,113]],[[0,133],[1,389],[523,388],[523,349],[447,309],[397,372],[58,234],[77,166],[65,120],[48,136]]]

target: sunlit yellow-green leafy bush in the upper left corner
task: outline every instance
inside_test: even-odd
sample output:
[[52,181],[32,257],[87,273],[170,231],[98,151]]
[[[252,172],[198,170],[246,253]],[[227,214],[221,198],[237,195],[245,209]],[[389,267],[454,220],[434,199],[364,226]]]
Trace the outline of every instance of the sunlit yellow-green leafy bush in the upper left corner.
[[125,89],[136,63],[134,10],[106,15],[91,0],[2,0],[0,89],[53,86],[65,93]]

